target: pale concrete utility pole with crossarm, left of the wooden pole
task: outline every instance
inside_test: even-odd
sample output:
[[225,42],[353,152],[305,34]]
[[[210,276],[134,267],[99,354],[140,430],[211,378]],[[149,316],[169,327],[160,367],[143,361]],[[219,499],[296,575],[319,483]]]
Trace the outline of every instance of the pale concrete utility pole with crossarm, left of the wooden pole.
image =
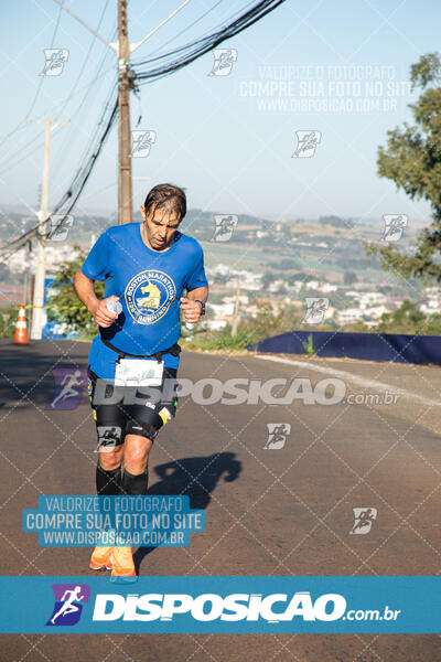
[[44,246],[46,243],[46,231],[47,231],[47,204],[49,204],[49,159],[51,151],[51,130],[54,127],[68,126],[71,122],[57,122],[51,119],[29,119],[26,121],[33,121],[35,124],[45,125],[45,142],[44,142],[44,166],[43,166],[43,181],[41,190],[41,209],[39,212],[39,221],[41,231],[37,232],[37,246],[36,246],[36,269],[35,269],[35,281],[34,281],[34,296],[32,301],[32,324],[31,324],[31,339],[41,340],[43,330],[43,305],[44,305],[44,276],[46,271]]

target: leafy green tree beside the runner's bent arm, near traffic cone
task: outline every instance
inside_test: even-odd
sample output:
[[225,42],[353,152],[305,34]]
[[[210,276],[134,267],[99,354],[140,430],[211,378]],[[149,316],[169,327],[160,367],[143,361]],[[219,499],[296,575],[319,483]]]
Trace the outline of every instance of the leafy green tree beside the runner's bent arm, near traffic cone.
[[[77,298],[73,279],[76,271],[86,259],[86,253],[79,246],[74,246],[78,252],[73,260],[60,265],[58,273],[51,286],[47,296],[47,320],[68,324],[72,331],[77,331],[82,338],[92,338],[97,333],[97,325],[87,308]],[[95,291],[98,298],[104,297],[104,282],[95,281]]]

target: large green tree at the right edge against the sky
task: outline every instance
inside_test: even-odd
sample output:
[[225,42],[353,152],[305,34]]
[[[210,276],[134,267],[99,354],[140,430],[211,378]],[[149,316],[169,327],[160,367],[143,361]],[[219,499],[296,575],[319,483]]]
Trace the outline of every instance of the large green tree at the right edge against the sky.
[[410,67],[412,87],[421,88],[410,104],[415,126],[407,122],[388,131],[387,147],[378,149],[378,174],[392,180],[411,200],[426,200],[432,222],[418,236],[412,254],[396,246],[365,244],[368,254],[378,254],[381,267],[399,276],[441,280],[441,58],[423,55]]

